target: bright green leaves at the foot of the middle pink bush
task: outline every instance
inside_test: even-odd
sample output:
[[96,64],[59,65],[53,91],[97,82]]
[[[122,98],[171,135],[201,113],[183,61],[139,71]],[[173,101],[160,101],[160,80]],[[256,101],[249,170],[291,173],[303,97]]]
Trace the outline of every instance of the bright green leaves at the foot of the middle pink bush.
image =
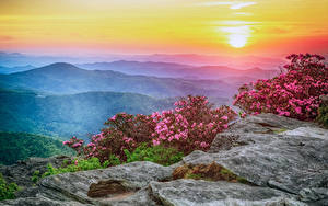
[[180,161],[184,157],[183,152],[174,148],[165,148],[163,146],[148,147],[147,144],[139,146],[133,152],[125,149],[127,162],[133,161],[151,161],[162,165],[171,165]]

